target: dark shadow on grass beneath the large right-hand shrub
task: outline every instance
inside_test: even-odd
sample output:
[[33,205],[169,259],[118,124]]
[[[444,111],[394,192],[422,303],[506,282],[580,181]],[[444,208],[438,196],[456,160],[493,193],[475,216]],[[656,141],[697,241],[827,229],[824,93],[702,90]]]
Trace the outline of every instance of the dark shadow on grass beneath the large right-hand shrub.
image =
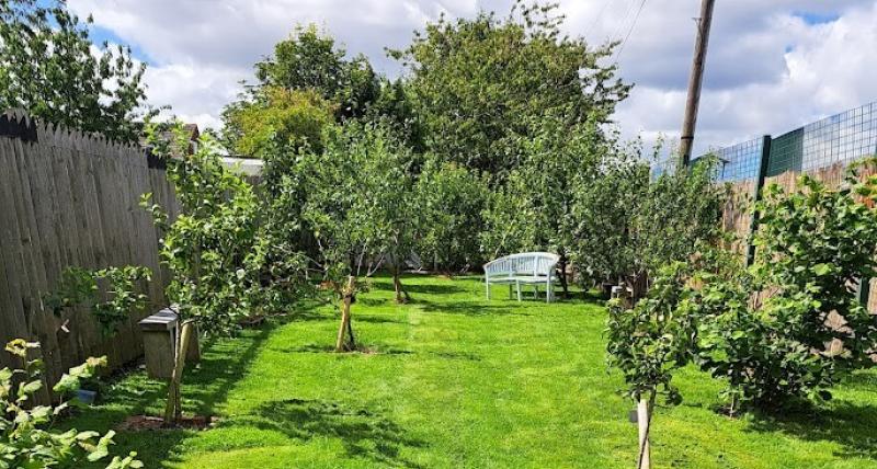
[[843,446],[839,457],[877,459],[877,407],[833,401],[824,407],[795,410],[782,415],[758,413],[752,430],[782,432],[808,442],[834,442]]

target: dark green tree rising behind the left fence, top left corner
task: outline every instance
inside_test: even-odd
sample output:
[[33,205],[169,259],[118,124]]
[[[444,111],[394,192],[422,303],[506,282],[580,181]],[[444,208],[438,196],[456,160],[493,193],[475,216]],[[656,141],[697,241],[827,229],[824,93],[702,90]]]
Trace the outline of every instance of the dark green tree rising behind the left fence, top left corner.
[[64,0],[0,2],[0,110],[136,141],[146,65],[128,47],[95,47],[91,24]]

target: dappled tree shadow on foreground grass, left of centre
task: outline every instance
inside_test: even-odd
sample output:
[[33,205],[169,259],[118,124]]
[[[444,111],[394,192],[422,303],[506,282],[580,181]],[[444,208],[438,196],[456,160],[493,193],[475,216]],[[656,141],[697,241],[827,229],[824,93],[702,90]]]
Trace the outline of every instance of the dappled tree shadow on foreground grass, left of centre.
[[365,408],[351,408],[324,400],[286,399],[260,405],[252,415],[229,421],[281,432],[289,438],[339,438],[351,457],[366,458],[389,467],[419,468],[405,459],[405,448],[424,447],[397,423]]

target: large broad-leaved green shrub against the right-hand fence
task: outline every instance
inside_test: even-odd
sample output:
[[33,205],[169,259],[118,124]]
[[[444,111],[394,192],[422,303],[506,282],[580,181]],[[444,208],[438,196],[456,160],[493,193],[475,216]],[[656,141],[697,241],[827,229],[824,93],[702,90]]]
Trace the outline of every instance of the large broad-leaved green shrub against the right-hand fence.
[[727,394],[761,408],[831,397],[852,370],[874,366],[877,320],[855,297],[877,274],[877,179],[856,170],[840,190],[804,175],[766,188],[749,271],[708,278],[701,291],[703,367]]

